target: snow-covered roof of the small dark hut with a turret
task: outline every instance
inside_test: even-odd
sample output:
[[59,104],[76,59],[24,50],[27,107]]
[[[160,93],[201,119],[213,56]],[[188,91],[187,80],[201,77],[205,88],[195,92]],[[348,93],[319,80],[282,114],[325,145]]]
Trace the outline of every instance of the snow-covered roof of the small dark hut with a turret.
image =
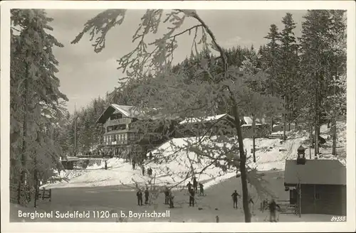
[[[298,181],[299,180],[299,181]],[[297,165],[296,160],[287,160],[284,172],[285,185],[346,185],[346,167],[332,159],[306,160]]]

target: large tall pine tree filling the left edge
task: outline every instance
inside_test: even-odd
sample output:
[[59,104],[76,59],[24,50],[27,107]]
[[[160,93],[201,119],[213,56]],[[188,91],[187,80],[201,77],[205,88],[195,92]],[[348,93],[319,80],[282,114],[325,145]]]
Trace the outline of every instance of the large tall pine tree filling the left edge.
[[37,190],[41,173],[60,166],[53,130],[63,115],[60,100],[68,99],[58,90],[52,48],[63,45],[47,33],[50,21],[43,10],[11,10],[10,180],[18,184],[19,204],[28,201],[31,185]]

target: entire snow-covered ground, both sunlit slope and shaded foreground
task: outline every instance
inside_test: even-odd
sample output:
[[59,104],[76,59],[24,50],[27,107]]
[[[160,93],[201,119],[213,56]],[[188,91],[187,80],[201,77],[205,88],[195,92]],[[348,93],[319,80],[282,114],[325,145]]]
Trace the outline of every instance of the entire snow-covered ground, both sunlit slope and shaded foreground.
[[[345,126],[345,123],[343,124]],[[339,124],[338,132],[340,135],[337,141],[337,150],[342,157],[345,158],[345,127],[341,127]],[[327,127],[321,129],[322,136],[326,138],[328,134]],[[295,131],[288,133],[288,140],[284,143],[280,143],[279,139],[257,139],[256,140],[256,167],[261,173],[264,173],[263,179],[266,183],[261,183],[264,188],[270,191],[271,195],[276,200],[288,200],[288,192],[284,190],[283,185],[283,168],[284,161],[287,158],[295,158],[295,151],[300,143],[306,148],[303,142],[308,139],[308,134],[295,134]],[[184,144],[184,140],[179,139],[176,143]],[[324,158],[331,153],[331,139],[328,140],[326,145],[320,148]],[[248,153],[252,141],[250,139],[244,140],[244,146]],[[167,156],[169,153],[168,144],[165,145]],[[182,146],[182,145],[181,145]],[[162,145],[164,147],[164,145]],[[344,153],[342,152],[344,151]],[[308,149],[307,149],[308,158]],[[312,151],[313,153],[313,151]],[[183,171],[187,170],[187,165],[190,164],[187,160],[187,153],[181,154],[176,157],[174,161],[164,165],[149,164],[154,170],[154,173],[159,173],[155,180],[155,184],[164,185],[167,183],[177,183],[182,180]],[[179,158],[179,159],[178,159]],[[313,156],[312,156],[313,158]],[[204,166],[206,161],[201,161],[201,167]],[[149,183],[152,178],[147,175],[142,175],[140,169],[132,170],[132,166],[129,163],[124,163],[120,159],[110,159],[108,161],[108,170],[103,169],[104,164],[94,165],[87,170],[69,170],[61,173],[61,176],[66,176],[69,182],[54,183],[47,185],[47,188],[53,188],[52,190],[52,202],[47,200],[40,200],[38,212],[45,211],[108,211],[110,217],[98,219],[91,216],[88,219],[36,219],[36,220],[24,220],[18,217],[18,211],[33,212],[35,209],[31,207],[19,207],[17,205],[11,205],[11,222],[117,222],[117,218],[111,214],[115,212],[151,212],[153,210],[164,212],[170,210],[170,217],[162,219],[137,219],[128,218],[127,222],[215,222],[216,216],[219,216],[220,222],[244,222],[244,213],[241,210],[241,199],[239,200],[239,209],[235,210],[232,207],[231,193],[237,190],[241,192],[241,179],[235,178],[236,173],[230,172],[222,175],[220,168],[210,168],[204,171],[203,175],[199,177],[199,181],[204,181],[206,196],[197,196],[197,205],[195,207],[189,207],[187,196],[187,189],[175,189],[174,190],[174,209],[168,209],[167,205],[164,205],[164,197],[159,194],[157,199],[152,203],[157,205],[144,205],[142,207],[137,205],[136,193],[132,188],[132,183],[137,182],[140,186]],[[194,168],[201,169],[199,164],[194,164]],[[253,166],[250,163],[249,166]],[[167,170],[168,168],[168,170]],[[275,169],[273,169],[275,168]],[[167,172],[164,172],[164,169]],[[269,170],[269,171],[267,171]],[[219,176],[220,175],[220,176]],[[211,178],[211,176],[215,176]],[[174,179],[174,180],[173,180]],[[185,185],[185,184],[184,184]],[[255,206],[253,207],[252,222],[264,222],[266,220],[267,213],[258,210],[261,203],[261,197],[258,192],[251,185],[248,185],[248,193],[253,198]],[[30,205],[33,205],[31,203]],[[279,222],[330,222],[330,215],[279,215]]]

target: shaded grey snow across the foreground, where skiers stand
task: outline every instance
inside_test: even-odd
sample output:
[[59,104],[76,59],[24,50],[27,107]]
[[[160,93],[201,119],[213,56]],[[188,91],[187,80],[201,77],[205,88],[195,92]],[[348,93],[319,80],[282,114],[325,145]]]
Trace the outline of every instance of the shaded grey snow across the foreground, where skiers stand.
[[[268,187],[275,191],[275,195],[279,200],[286,200],[288,192],[283,186],[283,171],[273,171],[266,173],[264,178],[268,180]],[[252,195],[253,201],[256,203],[253,207],[252,222],[264,222],[267,212],[258,210],[260,200],[253,188],[248,187]],[[111,215],[115,212],[165,212],[170,210],[170,216],[162,219],[156,219],[157,222],[215,222],[215,217],[219,216],[220,222],[244,222],[244,213],[241,210],[241,199],[239,199],[239,209],[232,207],[231,193],[238,190],[241,193],[241,179],[230,178],[221,183],[212,186],[206,190],[204,197],[197,196],[197,204],[195,207],[189,207],[189,197],[187,190],[174,191],[174,209],[169,209],[164,205],[164,196],[161,194],[157,198],[157,206],[144,205],[138,206],[135,196],[135,191],[124,191],[116,186],[95,187],[95,188],[56,188],[53,189],[52,202],[41,201],[38,212],[59,211],[108,211],[110,217],[102,219],[94,218],[91,215],[85,219],[23,219],[18,216],[18,211],[34,212],[33,207],[19,207],[11,205],[11,221],[13,222],[117,222],[118,220]],[[32,203],[31,203],[32,204]],[[279,215],[279,222],[330,222],[329,215]],[[127,222],[152,222],[152,218],[127,218]]]

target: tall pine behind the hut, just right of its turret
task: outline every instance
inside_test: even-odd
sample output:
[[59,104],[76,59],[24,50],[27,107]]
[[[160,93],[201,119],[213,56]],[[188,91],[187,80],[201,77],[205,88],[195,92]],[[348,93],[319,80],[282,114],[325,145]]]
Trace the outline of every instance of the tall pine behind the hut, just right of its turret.
[[[305,87],[305,102],[307,114],[312,117],[315,127],[315,156],[318,156],[320,122],[323,114],[323,99],[327,96],[325,88],[330,81],[330,12],[326,10],[312,10],[304,16],[302,23],[302,37],[300,38],[300,65]],[[313,101],[310,101],[313,99]],[[307,105],[308,104],[308,105]]]

